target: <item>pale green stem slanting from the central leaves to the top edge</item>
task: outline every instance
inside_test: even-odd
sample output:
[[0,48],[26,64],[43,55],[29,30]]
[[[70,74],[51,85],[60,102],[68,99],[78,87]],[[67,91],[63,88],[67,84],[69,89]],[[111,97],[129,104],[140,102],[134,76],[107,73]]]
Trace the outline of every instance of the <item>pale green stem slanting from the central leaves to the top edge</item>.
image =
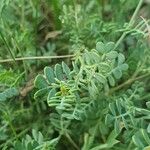
[[[131,17],[131,19],[130,19],[130,21],[129,21],[128,26],[126,27],[126,30],[128,30],[131,26],[133,26],[134,20],[135,20],[137,14],[138,14],[138,11],[139,11],[140,7],[142,6],[142,3],[143,3],[143,0],[140,0],[139,3],[138,3],[138,5],[137,5],[137,7],[136,7],[136,9],[135,9],[135,11],[134,11],[134,13],[133,13],[133,15],[132,15],[132,17]],[[127,35],[127,32],[125,31],[121,35],[121,37],[119,38],[119,40],[117,41],[114,50],[120,45],[120,43],[122,42],[122,40],[125,38],[126,35]]]

